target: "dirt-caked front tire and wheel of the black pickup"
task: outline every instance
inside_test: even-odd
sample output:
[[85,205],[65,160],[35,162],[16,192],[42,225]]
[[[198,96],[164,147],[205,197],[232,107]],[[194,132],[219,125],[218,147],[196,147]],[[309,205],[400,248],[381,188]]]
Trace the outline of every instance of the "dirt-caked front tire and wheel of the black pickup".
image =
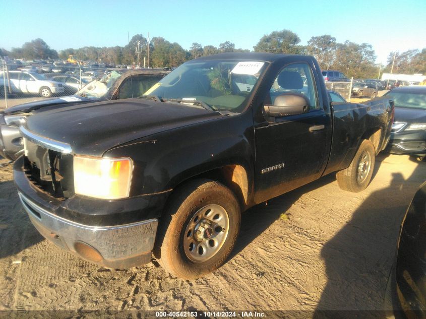
[[234,247],[240,207],[229,188],[194,180],[172,195],[157,232],[154,257],[172,275],[195,279],[219,268]]

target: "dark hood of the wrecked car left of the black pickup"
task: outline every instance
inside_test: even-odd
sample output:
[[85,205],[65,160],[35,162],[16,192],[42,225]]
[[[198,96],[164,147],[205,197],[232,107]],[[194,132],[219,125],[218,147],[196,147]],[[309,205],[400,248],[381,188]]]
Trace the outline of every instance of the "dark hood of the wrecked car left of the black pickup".
[[34,102],[24,103],[15,105],[12,107],[8,107],[3,110],[6,115],[14,114],[14,113],[29,113],[31,111],[37,110],[46,106],[56,106],[56,105],[72,105],[78,103],[87,103],[93,102],[94,99],[88,99],[82,96],[63,96],[63,97],[52,97],[48,99],[38,100]]

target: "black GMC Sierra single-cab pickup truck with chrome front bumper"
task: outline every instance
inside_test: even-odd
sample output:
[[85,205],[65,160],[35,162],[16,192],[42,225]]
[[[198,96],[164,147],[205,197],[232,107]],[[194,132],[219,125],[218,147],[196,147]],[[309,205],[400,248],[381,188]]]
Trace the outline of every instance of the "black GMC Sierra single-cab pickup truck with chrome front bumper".
[[394,108],[331,103],[311,56],[224,53],[184,63],[137,99],[73,105],[20,127],[22,205],[47,239],[111,268],[220,267],[248,208],[337,171],[370,182]]

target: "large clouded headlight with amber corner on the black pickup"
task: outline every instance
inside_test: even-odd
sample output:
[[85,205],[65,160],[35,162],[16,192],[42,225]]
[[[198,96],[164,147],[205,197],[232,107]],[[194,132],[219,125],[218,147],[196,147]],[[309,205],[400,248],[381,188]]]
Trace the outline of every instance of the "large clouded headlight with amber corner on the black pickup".
[[133,161],[128,158],[74,157],[74,192],[115,200],[129,197]]

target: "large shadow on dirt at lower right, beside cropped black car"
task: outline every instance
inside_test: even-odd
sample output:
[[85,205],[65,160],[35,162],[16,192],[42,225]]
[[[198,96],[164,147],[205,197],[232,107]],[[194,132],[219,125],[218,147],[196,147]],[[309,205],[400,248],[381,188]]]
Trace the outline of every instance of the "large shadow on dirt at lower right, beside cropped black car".
[[[323,246],[327,284],[314,318],[327,317],[330,310],[383,310],[400,223],[426,177],[426,163],[417,163],[407,179],[392,173],[391,184],[364,200],[352,219]],[[351,315],[355,313],[345,311],[338,316]]]

